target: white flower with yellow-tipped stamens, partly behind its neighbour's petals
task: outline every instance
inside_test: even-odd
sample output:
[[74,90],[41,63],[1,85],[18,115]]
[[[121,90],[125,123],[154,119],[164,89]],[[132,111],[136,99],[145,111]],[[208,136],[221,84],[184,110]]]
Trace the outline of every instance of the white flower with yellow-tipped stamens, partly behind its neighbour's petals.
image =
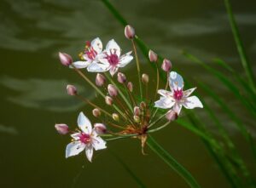
[[[98,54],[102,53],[102,41],[99,37],[96,37],[90,42],[86,42],[84,53],[82,54],[82,59],[79,61],[73,62],[73,66],[78,69],[86,68],[90,66],[91,63],[97,61]],[[72,68],[72,66],[70,66]]]

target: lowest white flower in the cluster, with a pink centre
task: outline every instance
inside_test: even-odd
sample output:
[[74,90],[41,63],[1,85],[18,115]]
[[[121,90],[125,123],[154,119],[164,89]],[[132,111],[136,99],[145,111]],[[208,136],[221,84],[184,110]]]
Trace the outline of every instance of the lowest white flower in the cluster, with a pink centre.
[[66,157],[76,156],[85,150],[85,155],[91,162],[93,148],[96,151],[105,149],[106,142],[98,136],[95,128],[91,128],[90,120],[84,116],[83,112],[79,113],[78,125],[81,131],[71,134],[73,142],[67,145]]

